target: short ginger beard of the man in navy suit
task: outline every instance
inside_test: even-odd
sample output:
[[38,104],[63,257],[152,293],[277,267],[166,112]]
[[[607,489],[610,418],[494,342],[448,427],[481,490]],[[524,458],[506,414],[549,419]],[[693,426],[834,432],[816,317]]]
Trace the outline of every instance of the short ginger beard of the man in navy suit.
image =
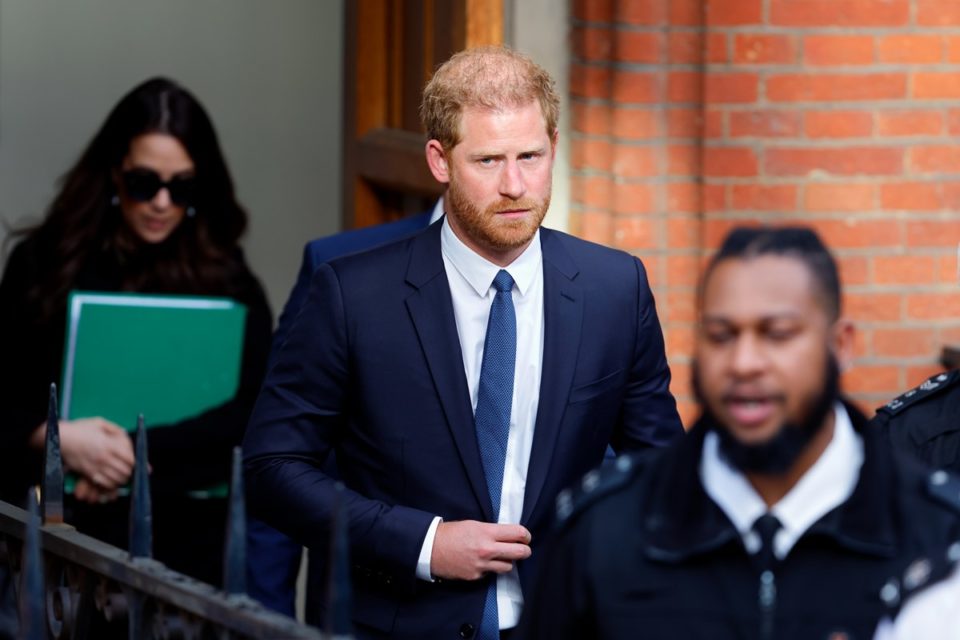
[[[446,198],[450,202],[448,213],[455,220],[455,226],[474,243],[497,253],[518,249],[530,242],[550,207],[550,193],[547,192],[540,201],[502,198],[481,211],[460,189],[455,176],[451,176]],[[497,212],[504,209],[529,209],[532,215],[523,220],[497,220]]]

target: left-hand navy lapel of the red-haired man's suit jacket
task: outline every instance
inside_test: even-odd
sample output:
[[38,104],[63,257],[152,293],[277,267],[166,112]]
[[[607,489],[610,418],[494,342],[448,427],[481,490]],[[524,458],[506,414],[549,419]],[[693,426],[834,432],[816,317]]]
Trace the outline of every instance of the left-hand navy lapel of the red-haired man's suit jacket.
[[406,300],[407,310],[416,327],[470,486],[483,508],[486,520],[495,522],[477,447],[470,391],[463,372],[460,338],[453,315],[453,299],[440,252],[440,227],[440,223],[434,223],[412,241],[407,282],[416,291]]

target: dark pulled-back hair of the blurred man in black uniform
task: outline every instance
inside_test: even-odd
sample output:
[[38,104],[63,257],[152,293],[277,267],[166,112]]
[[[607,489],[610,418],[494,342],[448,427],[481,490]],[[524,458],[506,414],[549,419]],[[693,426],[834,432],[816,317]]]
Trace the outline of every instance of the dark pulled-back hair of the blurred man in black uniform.
[[700,296],[707,280],[724,260],[750,260],[761,256],[784,256],[801,261],[819,289],[819,297],[831,321],[840,317],[840,273],[827,246],[809,227],[736,227],[707,263],[700,280]]

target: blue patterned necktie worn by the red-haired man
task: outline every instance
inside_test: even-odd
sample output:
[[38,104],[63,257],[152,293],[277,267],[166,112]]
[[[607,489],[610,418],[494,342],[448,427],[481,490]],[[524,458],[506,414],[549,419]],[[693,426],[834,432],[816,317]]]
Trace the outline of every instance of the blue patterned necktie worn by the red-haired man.
[[[480,364],[480,386],[473,420],[480,445],[480,459],[487,478],[487,490],[493,504],[493,515],[500,513],[500,491],[503,488],[503,466],[507,458],[507,437],[510,433],[510,408],[513,404],[513,375],[517,359],[517,316],[513,310],[513,278],[500,270],[493,279],[497,290],[490,305],[487,336],[483,341]],[[497,614],[497,581],[487,589],[480,620],[479,640],[498,640],[500,621]]]

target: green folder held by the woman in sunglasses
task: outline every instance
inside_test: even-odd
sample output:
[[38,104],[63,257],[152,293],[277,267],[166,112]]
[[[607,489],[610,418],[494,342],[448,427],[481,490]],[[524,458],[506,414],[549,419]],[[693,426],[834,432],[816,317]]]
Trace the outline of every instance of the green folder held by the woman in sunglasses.
[[[191,418],[240,382],[247,309],[227,298],[74,291],[68,299],[60,413],[128,431]],[[189,447],[189,442],[184,442]],[[225,495],[225,487],[203,495]]]

